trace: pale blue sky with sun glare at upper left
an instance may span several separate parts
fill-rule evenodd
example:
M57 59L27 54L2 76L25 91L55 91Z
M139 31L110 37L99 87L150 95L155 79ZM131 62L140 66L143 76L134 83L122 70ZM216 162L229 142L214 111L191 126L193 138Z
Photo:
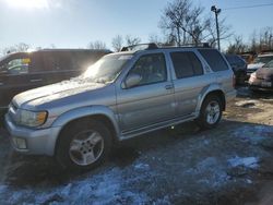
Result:
M147 41L151 34L161 35L162 11L171 0L0 0L0 49L19 43L33 48L86 48L102 40L111 49L116 35L131 35ZM254 29L273 26L273 0L193 0L213 15L211 5L223 9L233 33L246 41ZM227 43L223 43L227 44Z

